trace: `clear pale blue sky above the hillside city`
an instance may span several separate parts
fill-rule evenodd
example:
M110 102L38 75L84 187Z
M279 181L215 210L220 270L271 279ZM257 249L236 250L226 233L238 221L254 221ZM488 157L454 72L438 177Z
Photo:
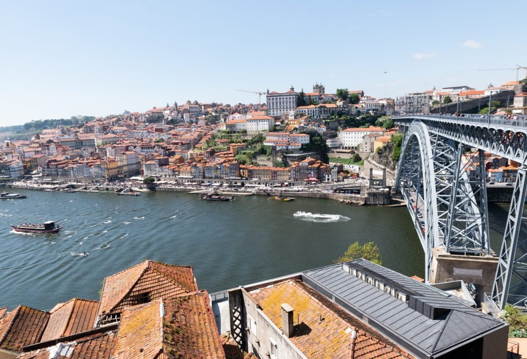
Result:
M308 92L315 82L376 98L500 85L516 71L476 70L527 66L527 2L503 4L2 2L0 125L257 102L233 90Z

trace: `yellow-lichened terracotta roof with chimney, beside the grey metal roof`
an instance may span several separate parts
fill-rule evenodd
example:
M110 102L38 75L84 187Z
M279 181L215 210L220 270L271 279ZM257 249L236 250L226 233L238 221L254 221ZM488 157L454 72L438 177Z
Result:
M289 340L308 358L412 358L373 328L344 312L301 282L287 280L250 292L265 315L281 328L281 304L294 309L295 333ZM297 319L298 318L298 319ZM298 323L299 322L299 323Z

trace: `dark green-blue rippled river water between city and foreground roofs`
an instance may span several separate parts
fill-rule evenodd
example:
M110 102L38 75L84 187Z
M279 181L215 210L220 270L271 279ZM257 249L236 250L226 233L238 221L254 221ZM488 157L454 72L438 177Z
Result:
M373 240L386 267L424 275L423 250L404 207L262 196L209 202L181 192L16 192L27 198L0 201L0 307L10 310L99 299L104 277L147 258L192 265L198 287L213 293L331 264L356 240ZM502 230L506 207L491 206L491 213L491 227ZM64 228L34 235L9 227L46 220ZM493 232L498 253L500 236Z

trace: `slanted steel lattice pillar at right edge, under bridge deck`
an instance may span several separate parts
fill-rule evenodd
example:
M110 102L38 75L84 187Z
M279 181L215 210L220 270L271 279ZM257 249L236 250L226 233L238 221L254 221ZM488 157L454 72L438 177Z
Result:
M500 251L491 298L500 309L505 304L527 306L527 167L518 169L509 216Z

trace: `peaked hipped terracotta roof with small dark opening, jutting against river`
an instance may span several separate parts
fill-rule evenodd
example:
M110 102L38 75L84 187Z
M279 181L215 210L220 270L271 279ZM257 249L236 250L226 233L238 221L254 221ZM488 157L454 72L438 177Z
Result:
M97 317L119 313L123 307L198 290L191 266L174 266L145 260L104 279Z

